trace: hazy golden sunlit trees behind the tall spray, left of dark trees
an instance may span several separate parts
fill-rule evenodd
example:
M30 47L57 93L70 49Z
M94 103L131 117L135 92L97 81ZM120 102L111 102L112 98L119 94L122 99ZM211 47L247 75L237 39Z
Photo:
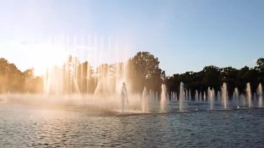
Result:
M149 52L138 52L124 63L101 64L96 69L88 61L81 63L79 58L69 56L61 67L51 67L43 76L34 76L33 69L22 72L14 63L6 58L0 58L0 93L31 92L56 94L90 93L93 94L97 85L102 85L100 79L108 78L110 92L116 91L114 86L117 77L124 72L126 66L127 80L131 83L132 92L142 92L143 88L160 92L164 73L159 67L158 58ZM62 82L62 83L60 83ZM109 86L110 85L110 86ZM48 86L48 87L46 87ZM104 88L104 87L101 87Z

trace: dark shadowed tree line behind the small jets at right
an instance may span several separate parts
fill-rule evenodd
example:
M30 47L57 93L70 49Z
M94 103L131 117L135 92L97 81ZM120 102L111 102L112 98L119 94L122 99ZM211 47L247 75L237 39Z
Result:
M210 65L204 67L200 72L185 72L167 76L165 83L169 91L179 92L181 81L185 84L185 89L190 90L192 98L195 97L196 90L199 93L204 93L208 87L211 87L220 91L223 83L227 85L229 96L233 94L235 88L238 88L240 93L245 94L247 83L251 84L251 91L256 92L258 84L264 83L264 58L258 58L256 66L253 68L247 66L241 69L220 68Z

